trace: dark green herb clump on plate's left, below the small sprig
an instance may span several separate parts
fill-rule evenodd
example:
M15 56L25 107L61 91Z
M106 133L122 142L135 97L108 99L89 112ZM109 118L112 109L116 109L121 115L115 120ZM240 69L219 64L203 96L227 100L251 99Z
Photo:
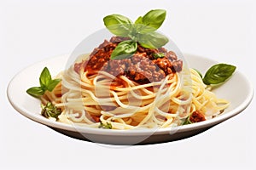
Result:
M47 102L46 105L41 105L42 111L41 115L46 118L54 117L58 120L58 116L61 115L61 108L56 107L51 102Z

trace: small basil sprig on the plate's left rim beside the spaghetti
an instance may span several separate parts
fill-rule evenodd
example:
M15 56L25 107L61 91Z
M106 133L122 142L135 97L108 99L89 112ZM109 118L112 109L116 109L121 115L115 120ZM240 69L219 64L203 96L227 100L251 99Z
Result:
M61 79L52 79L47 67L41 72L39 77L40 87L32 87L26 90L27 94L32 95L35 98L39 98L44 95L45 91L51 92L55 86L61 82Z

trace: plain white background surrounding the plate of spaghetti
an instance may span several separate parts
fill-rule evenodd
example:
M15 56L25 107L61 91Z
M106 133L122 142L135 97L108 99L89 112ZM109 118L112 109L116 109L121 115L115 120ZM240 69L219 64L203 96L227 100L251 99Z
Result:
M27 65L71 53L107 14L136 20L152 8L167 10L160 31L183 52L236 65L255 87L253 0L0 1L0 169L256 169L255 99L195 137L129 147L71 139L9 105L8 83Z

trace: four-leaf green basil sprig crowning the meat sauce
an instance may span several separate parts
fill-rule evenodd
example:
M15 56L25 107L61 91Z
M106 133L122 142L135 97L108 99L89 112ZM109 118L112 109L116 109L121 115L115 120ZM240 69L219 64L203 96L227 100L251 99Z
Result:
M130 37L130 41L120 42L113 50L111 59L125 59L137 51L137 43L143 48L160 48L169 40L166 36L155 32L166 19L166 10L154 9L139 16L135 23L121 14L104 17L104 25L108 31L119 37ZM119 56L121 55L121 56Z

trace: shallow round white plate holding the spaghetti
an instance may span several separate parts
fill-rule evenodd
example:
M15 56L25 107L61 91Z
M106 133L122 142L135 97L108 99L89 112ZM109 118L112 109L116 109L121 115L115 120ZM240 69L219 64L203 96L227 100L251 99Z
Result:
M211 65L216 64L212 59L185 54L189 66L199 71L206 71ZM76 139L84 139L104 144L154 144L185 139L201 133L220 122L243 111L253 98L253 87L247 78L241 74L239 68L224 85L214 90L219 98L228 99L230 107L223 115L205 122L198 122L176 128L146 129L146 130L112 130L90 127L74 127L61 122L53 122L40 115L40 102L26 94L26 89L38 85L38 77L44 66L49 68L52 75L65 69L68 55L61 55L38 62L20 71L9 82L7 94L9 102L16 111L32 121L42 123L56 131ZM242 89L242 90L241 90ZM239 96L239 97L238 97Z

